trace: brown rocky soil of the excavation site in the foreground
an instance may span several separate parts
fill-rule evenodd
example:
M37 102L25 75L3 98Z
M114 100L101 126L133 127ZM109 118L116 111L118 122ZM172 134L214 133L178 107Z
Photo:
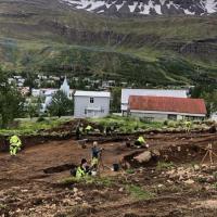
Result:
M0 216L216 216L217 165L201 161L216 133L153 133L150 148L125 141L100 144L100 177L77 181L69 168L90 146L74 140L27 146L11 158L0 153ZM216 158L214 157L216 163ZM118 173L114 163L125 163Z

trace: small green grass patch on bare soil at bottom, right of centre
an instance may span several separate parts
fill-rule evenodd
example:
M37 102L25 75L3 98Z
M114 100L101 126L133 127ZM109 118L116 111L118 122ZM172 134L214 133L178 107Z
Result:
M153 193L142 189L139 186L130 184L130 186L126 187L126 190L130 196L132 196L133 199L139 200L139 201L149 200L149 199L154 197Z

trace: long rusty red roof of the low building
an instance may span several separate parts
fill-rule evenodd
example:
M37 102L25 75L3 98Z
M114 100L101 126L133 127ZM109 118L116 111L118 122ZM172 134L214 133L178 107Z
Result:
M130 95L129 108L188 114L206 114L203 99Z

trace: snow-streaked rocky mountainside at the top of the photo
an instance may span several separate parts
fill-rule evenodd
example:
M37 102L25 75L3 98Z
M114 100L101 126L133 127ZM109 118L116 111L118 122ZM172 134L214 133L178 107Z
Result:
M217 0L61 0L89 12L107 15L207 15L217 12Z

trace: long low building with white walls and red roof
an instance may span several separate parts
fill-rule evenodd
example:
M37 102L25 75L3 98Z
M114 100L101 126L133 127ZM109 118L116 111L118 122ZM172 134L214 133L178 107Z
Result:
M202 99L130 95L128 114L149 120L203 119L206 106Z

